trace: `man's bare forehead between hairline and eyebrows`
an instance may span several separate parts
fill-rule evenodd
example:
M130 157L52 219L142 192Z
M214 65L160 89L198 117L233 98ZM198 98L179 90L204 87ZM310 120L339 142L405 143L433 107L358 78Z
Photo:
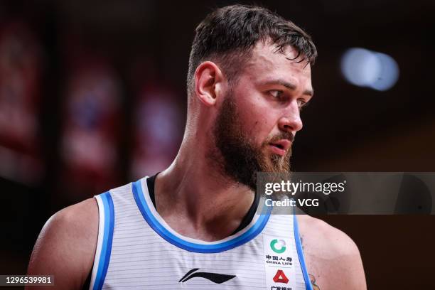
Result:
M296 56L296 49L287 45L284 54L276 50L273 43L259 41L252 49L251 58L247 61L244 74L251 80L267 80L279 78L294 83L301 89L311 88L311 65L307 65L302 56ZM300 63L298 63L302 60Z

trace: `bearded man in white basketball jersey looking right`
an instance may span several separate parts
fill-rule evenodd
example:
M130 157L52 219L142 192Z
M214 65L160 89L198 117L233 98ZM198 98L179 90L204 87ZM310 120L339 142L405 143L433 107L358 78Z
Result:
M311 38L267 9L213 11L196 28L176 159L53 215L28 273L55 275L58 289L87 277L92 289L366 289L343 232L254 214L256 172L289 171L315 58Z

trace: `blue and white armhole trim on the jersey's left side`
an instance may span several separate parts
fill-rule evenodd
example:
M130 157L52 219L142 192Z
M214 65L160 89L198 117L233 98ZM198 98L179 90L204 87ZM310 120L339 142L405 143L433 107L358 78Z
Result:
M109 267L110 252L112 252L112 237L114 228L114 206L109 191L95 195L98 204L98 238L94 265L90 280L90 290L100 290Z

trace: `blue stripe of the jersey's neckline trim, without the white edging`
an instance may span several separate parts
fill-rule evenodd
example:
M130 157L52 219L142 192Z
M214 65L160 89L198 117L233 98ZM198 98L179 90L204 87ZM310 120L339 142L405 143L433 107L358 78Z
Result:
M163 237L163 239L170 242L172 245L180 247L181 249L186 249L189 252L218 253L227 251L228 249L233 249L235 247L245 244L246 242L249 242L254 237L256 237L260 232L262 232L264 226L269 220L270 210L266 214L260 215L257 222L255 222L255 224L251 228L249 228L249 230L244 232L242 235L235 237L232 240L227 240L225 242L220 242L213 245L197 244L194 242L188 242L181 239L180 237L177 237L176 235L173 235L172 232L169 232L166 227L161 225L159 220L157 220L151 213L151 210L146 203L140 180L132 183L132 190L134 200L136 200L136 204L138 205L142 216L144 217L146 222L148 222L148 224L154 229L154 231L156 231L161 237Z

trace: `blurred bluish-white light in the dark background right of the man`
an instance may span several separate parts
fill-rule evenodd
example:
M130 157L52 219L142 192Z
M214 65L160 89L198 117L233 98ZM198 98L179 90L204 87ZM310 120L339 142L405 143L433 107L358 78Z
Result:
M389 90L399 78L399 66L392 57L365 48L346 50L341 72L353 85L381 91Z

